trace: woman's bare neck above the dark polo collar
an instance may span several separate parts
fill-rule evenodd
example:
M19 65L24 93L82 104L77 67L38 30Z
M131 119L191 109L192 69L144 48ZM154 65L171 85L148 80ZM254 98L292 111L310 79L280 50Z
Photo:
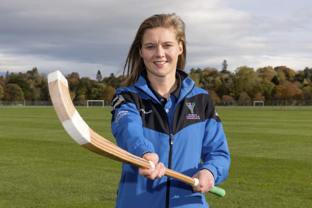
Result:
M178 80L175 78L175 74L174 76L168 77L149 77L149 75L147 75L147 77L154 89L167 100L169 99L169 94L178 86Z

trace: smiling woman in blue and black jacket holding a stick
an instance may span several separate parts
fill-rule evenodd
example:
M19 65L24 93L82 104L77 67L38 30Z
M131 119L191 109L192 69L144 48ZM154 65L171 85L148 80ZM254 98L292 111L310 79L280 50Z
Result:
M111 129L119 147L157 165L123 164L116 207L208 207L204 193L227 178L221 121L185 64L184 22L174 13L144 20L124 65L126 87L112 99ZM166 167L198 178L199 185L163 177Z

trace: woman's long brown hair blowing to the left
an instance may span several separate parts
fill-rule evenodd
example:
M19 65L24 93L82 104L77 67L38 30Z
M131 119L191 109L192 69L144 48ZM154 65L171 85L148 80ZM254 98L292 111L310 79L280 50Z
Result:
M142 39L144 32L147 29L155 27L172 28L176 34L178 43L181 41L183 44L183 52L178 56L177 68L184 70L186 64L186 39L185 39L185 24L175 13L172 14L155 14L142 22L140 25L134 41L130 46L127 59L123 65L123 76L125 80L122 86L131 86L139 79L140 71L145 68L143 58L139 54L139 49L142 46ZM121 70L122 70L121 68ZM125 76L125 71L127 73Z

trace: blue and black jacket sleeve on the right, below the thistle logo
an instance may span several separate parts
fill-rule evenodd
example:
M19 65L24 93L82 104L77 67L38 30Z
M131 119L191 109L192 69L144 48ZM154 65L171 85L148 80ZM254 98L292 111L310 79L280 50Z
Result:
M205 117L205 133L201 153L203 164L200 169L212 172L216 186L227 179L230 154L221 120L210 95L208 95Z

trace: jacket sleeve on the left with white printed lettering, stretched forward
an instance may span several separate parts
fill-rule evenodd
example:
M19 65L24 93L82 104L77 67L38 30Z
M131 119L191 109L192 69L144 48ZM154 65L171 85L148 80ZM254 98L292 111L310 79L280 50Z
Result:
M152 143L144 138L142 119L131 93L117 89L111 104L111 130L117 145L138 157L155 152Z

